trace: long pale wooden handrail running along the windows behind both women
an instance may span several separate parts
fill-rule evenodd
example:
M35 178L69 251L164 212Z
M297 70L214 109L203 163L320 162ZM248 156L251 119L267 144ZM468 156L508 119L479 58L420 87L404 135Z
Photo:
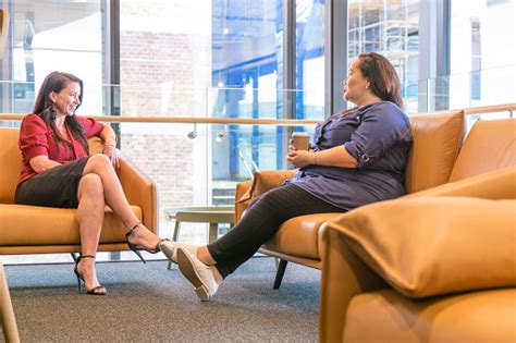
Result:
M460 109L456 109L458 111ZM513 112L516 110L516 102L480 106L464 109L466 115L483 114L493 112ZM445 110L441 112L450 112ZM439 113L439 112L434 112ZM427 114L427 113L418 113ZM22 120L26 114L0 113L0 120ZM112 123L175 123L175 124L235 124L235 125L284 125L303 126L320 123L322 120L314 119L250 119L250 118L199 118L199 117L119 117L119 115L87 115L100 122Z

